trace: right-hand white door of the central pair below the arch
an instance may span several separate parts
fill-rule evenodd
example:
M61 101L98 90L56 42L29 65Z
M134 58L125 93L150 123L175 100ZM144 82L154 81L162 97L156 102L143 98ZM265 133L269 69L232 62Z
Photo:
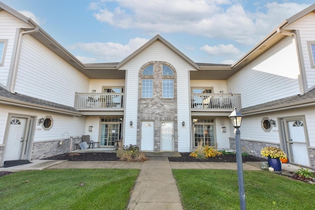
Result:
M161 150L174 151L174 122L161 122Z

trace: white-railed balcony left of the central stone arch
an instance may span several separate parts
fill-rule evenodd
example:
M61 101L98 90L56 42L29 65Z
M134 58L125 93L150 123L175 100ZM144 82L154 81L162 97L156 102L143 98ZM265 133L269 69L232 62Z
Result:
M125 93L75 93L74 108L79 111L124 111Z

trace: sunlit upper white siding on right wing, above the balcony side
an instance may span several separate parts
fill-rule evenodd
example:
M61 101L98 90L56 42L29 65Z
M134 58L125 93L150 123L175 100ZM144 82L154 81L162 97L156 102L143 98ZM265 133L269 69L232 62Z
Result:
M295 40L284 38L227 79L227 89L241 93L242 108L300 93Z

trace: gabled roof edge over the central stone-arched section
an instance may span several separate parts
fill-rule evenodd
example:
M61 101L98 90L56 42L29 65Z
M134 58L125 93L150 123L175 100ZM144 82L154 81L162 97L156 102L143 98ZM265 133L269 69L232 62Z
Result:
M116 67L119 69L123 65L125 65L127 62L132 60L134 57L142 53L145 49L150 47L153 43L156 41L160 41L163 43L166 47L168 47L171 51L173 51L176 55L178 55L180 58L185 60L189 63L193 68L199 69L199 66L193 62L191 59L189 59L185 54L183 54L181 51L179 51L177 48L175 48L173 45L171 45L168 41L166 41L162 36L157 34L155 37L153 37L151 40L149 40L147 43L142 45L142 47L138 48L136 51L134 51L132 54L130 54L126 59L122 60Z

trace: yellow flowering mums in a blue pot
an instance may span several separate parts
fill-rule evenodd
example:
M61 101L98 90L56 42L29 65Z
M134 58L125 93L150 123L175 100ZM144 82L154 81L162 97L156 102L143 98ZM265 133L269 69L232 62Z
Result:
M265 147L260 151L263 157L268 157L268 164L275 169L275 171L281 171L280 159L286 160L286 154L284 150L276 147Z

